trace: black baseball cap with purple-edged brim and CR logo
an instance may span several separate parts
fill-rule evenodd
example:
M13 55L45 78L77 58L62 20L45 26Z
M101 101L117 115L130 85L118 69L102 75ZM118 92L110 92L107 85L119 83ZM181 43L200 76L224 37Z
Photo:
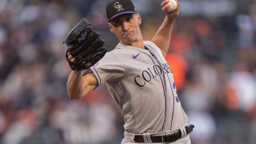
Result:
M108 22L123 14L137 13L131 0L113 0L106 6Z

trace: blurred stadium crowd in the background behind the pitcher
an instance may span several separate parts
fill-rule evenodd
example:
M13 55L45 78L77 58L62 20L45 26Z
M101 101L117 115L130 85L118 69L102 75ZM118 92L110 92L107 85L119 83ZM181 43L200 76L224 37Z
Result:
M100 86L70 100L68 32L87 18L111 51L109 0L0 0L0 143L119 144L120 108ZM144 40L162 0L133 0ZM166 57L195 129L192 144L256 143L256 0L179 0Z

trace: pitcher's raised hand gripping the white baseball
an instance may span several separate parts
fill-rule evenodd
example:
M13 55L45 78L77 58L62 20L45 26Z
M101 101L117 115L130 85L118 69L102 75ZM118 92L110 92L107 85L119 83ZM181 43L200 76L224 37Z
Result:
M175 10L173 11L168 11L168 8L170 6L173 6L172 3L174 3L174 1L177 3L177 7ZM179 8L180 8L180 3L178 3L177 0L164 0L161 3L161 7L162 7L162 11L164 14L166 14L166 16L170 19L170 20L174 20L175 18L177 18L179 16Z

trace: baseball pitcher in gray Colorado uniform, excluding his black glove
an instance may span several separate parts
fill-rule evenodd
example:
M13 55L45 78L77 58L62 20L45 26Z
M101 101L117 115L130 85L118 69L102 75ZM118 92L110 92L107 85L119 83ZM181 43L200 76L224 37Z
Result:
M106 6L109 29L120 43L94 66L72 71L68 80L70 99L81 99L106 83L124 117L122 144L190 144L188 133L194 126L187 126L172 70L164 59L180 6L178 3L176 10L168 12L168 2L161 3L166 17L151 41L143 41L142 21L131 0L110 2Z

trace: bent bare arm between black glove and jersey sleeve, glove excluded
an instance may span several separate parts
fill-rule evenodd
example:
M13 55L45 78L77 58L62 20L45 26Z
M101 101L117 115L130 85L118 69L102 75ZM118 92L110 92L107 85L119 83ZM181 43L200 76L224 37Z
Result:
M67 89L71 100L83 98L98 85L98 80L93 73L82 75L82 71L72 71L69 76Z

